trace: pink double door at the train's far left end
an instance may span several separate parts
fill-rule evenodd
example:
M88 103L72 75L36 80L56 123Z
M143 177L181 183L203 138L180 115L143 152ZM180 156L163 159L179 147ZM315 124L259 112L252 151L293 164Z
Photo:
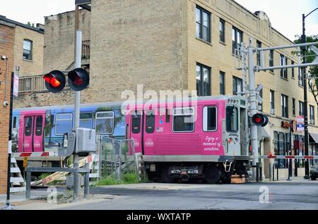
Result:
M24 114L22 119L23 139L20 146L23 152L43 151L45 111L43 113Z

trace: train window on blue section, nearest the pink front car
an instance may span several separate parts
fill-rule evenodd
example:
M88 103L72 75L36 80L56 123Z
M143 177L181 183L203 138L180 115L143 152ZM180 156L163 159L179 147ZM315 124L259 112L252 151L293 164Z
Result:
M96 132L102 135L110 135L114 132L114 112L96 113Z

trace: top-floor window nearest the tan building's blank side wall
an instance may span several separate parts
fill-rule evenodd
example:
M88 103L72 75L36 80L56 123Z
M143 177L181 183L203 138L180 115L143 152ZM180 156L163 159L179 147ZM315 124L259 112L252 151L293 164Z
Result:
M211 42L211 13L196 7L196 37Z

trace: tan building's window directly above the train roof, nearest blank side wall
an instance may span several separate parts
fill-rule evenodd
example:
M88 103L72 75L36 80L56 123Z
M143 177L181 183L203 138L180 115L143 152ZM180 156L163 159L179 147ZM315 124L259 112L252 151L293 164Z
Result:
M198 97L211 96L211 68L196 65L196 91Z

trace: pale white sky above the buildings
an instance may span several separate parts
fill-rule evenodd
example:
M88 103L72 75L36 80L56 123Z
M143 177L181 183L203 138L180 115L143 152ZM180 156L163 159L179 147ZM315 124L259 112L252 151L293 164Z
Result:
M0 0L0 15L20 23L42 23L47 15L73 11L75 0ZM105 0L107 1L107 0ZM224 1L224 0L216 0ZM302 32L302 13L318 8L318 0L236 0L249 11L265 11L271 25L291 40ZM318 10L306 18L306 34L318 35Z

